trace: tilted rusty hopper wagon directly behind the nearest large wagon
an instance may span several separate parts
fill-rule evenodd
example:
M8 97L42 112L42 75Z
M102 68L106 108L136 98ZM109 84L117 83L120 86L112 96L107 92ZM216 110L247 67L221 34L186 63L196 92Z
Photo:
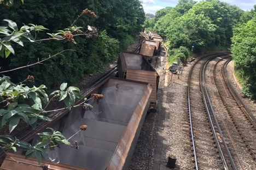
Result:
M150 102L156 103L159 75L143 55L121 52L118 58L118 76L129 80L150 83L152 86Z

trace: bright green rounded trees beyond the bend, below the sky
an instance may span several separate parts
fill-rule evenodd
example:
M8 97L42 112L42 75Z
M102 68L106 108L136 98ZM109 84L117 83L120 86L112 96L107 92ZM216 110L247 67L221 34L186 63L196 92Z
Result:
M163 11L167 9L170 8ZM180 0L167 14L153 18L146 26L167 37L171 48L190 48L194 44L194 52L202 52L212 45L230 47L232 28L243 13L242 9L217 0Z

